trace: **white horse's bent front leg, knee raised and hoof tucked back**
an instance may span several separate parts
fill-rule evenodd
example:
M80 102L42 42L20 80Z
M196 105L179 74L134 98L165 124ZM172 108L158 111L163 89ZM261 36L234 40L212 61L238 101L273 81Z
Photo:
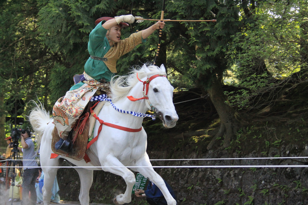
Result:
M113 174L121 176L126 183L126 190L124 194L117 195L115 197L115 203L124 204L130 203L132 201L132 189L136 182L135 175L128 168L125 168L124 165L115 157L108 156L106 160L100 160L103 171L109 171ZM105 168L109 167L109 168Z

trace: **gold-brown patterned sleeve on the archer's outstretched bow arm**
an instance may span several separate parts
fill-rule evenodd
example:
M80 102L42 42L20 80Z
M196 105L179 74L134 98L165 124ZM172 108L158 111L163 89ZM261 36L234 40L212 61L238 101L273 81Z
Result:
M137 33L131 34L128 38L125 38L124 40L120 41L119 57L130 52L132 49L136 47L136 45L139 45L140 43L142 43L141 34L142 34L142 31L139 31Z

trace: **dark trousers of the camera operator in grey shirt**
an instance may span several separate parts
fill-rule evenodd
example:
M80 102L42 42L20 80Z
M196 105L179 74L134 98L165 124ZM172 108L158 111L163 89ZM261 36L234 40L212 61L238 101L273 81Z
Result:
M21 205L35 205L36 191L35 182L39 176L39 168L25 169L22 177L22 202ZM29 191L31 197L29 198Z

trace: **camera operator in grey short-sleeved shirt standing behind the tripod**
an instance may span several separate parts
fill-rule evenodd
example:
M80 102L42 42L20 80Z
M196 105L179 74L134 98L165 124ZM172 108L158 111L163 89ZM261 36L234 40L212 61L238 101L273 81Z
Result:
M35 182L39 176L39 166L35 160L34 143L29 130L21 131L21 145L18 150L23 153L23 182L22 182L22 202L21 205L35 205L36 191ZM37 168L36 168L37 167ZM29 191L31 198L29 198Z

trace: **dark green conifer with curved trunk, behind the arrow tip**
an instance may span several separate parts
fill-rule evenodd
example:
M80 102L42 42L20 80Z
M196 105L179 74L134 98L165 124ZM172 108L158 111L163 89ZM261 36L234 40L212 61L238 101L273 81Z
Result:
M230 66L229 51L232 36L241 26L240 10L237 1L180 1L168 3L168 12L172 11L176 19L216 19L217 23L181 23L178 27L185 28L185 33L179 32L184 39L184 49L174 50L177 61L173 59L181 73L189 75L204 93L209 93L221 120L220 131L213 137L208 149L211 149L215 139L225 136L224 147L228 147L243 121L239 114L228 104L221 88L223 73ZM177 48L177 46L175 46ZM180 56L180 57L179 57ZM170 60L170 59L169 59ZM181 66L185 65L185 66Z

